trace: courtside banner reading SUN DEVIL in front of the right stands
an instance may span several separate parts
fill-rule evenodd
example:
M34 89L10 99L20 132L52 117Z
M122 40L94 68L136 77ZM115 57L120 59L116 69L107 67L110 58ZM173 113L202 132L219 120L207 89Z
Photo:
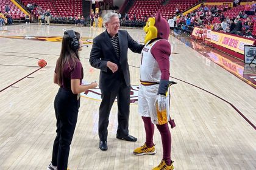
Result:
M198 36L197 30L199 29L201 28L194 27L192 35ZM240 53L242 55L244 55L244 45L253 45L255 41L255 39L252 39L252 38L243 38L241 36L230 35L228 33L222 33L222 32L216 32L216 31L211 32L211 40L212 40L212 43L214 44L225 47L229 50Z

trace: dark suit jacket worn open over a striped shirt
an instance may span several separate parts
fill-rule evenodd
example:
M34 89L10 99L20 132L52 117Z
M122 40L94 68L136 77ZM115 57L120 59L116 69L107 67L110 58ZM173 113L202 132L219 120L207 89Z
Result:
M118 31L119 52L116 55L115 48L110 40L110 36L105 32L93 39L93 47L90 54L91 66L100 69L99 88L103 92L113 92L120 86L121 81L125 81L126 86L130 86L130 72L127 62L128 48L132 52L141 53L144 45L138 44L130 37L126 30ZM107 61L118 65L118 71L115 73L108 69ZM124 77L124 78L123 78Z

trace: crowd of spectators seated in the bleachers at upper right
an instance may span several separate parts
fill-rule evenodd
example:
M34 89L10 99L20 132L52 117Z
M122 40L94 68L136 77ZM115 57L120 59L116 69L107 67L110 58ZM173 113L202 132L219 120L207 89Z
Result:
M249 6L249 7L248 7ZM238 9L240 11L238 11ZM177 21L179 29L193 29L193 26L205 27L220 32L233 33L253 38L255 36L255 4L238 5L229 9L227 5L204 5L182 16ZM189 30L191 32L191 30Z

